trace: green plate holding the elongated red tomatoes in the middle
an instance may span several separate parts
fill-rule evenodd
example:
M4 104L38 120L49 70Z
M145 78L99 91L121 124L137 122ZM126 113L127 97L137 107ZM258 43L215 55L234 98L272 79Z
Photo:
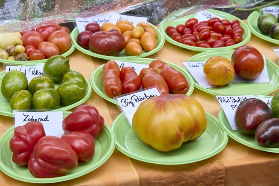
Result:
M133 63L139 63L139 64L149 64L153 60L154 59L151 59L151 58L139 58L139 59L130 59L130 60L121 60L121 61L133 62ZM195 87L194 80L193 80L192 76L190 75L190 73L186 72L185 70L183 70L182 67L180 67L178 65L175 65L170 62L166 62L166 63L168 63L170 66L172 66L176 70L180 71L187 78L187 80L189 82L189 90L186 93L186 95L190 96L192 94L192 92L194 91L194 87ZM104 92L103 83L102 83L103 66L104 65L101 65L93 71L93 73L91 74L91 77L90 77L90 84L91 84L93 90L97 94L99 94L99 96L101 96L102 98L106 99L107 101L109 101L111 103L119 105L117 100L108 97L106 95L106 93Z

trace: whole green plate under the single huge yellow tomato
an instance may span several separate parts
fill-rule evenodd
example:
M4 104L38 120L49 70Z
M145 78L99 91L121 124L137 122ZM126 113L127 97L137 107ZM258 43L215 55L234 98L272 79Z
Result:
M210 158L219 153L227 144L228 136L220 128L218 120L209 113L207 128L199 138L187 141L176 150L160 152L136 137L133 128L121 113L112 123L116 148L133 159L161 165L180 165Z

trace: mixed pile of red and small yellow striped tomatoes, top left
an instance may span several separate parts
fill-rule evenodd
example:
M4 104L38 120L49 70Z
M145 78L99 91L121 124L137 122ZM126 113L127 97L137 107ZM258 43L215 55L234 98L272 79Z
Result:
M11 41L0 49L2 59L42 60L53 55L61 55L72 46L69 28L59 23L38 26L30 31L20 32L20 36L10 39Z

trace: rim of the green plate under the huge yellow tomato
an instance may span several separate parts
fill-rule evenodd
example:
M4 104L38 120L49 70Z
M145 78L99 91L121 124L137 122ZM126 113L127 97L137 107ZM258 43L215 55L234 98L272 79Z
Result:
M185 161L176 161L176 160L171 160L171 159L168 160L168 161L160 161L160 160L152 159L150 157L142 157L142 156L138 156L138 155L130 152L127 148L121 146L119 144L119 142L117 141L117 138L116 138L116 148L130 158L133 158L133 159L136 159L136 160L139 160L139 161L143 161L143 162L147 162L147 163L159 164L159 165L182 165L182 164L194 163L194 162L198 162L198 161L201 161L201 160L205 160L205 159L210 158L210 157L218 154L219 152L221 152L225 148L225 146L226 146L226 144L228 143L228 140L229 140L228 135L219 126L217 118L215 118L214 116L212 116L208 112L206 112L206 115L207 115L207 121L210 118L211 120L214 121L212 124L216 125L217 128L220 128L220 130L218 131L220 133L218 133L218 135L220 134L220 136L222 136L222 141L219 144L218 148L212 149L212 151L209 154L204 155L202 158L193 157L193 159L185 160ZM128 123L125 119L125 115L122 112L121 114L119 114L119 116L116 117L116 119L114 120L114 122L111 125L111 129L114 131L114 134L116 136L117 136L117 133L115 132L115 129L116 129L116 126L119 125L119 120L124 120L126 122L126 124L128 125ZM209 125L207 124L207 127L208 126ZM207 130L208 129L206 128L205 131L207 131ZM185 142L185 143L187 143L187 142ZM157 150L154 149L154 151L157 151Z

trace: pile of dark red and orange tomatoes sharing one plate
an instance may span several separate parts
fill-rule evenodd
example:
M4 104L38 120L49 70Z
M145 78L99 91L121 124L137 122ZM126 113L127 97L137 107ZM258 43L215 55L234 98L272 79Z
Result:
M146 22L133 26L129 21L120 20L116 24L104 22L88 23L85 31L77 35L77 44L89 48L100 55L117 56L123 49L128 56L141 55L157 47L157 33Z

